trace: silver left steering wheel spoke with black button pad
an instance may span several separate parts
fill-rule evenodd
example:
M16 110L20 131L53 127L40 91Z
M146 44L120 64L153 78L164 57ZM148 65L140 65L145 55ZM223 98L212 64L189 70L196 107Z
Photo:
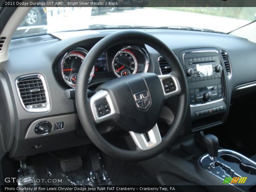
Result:
M107 91L100 90L95 93L90 99L90 105L96 123L116 118L116 110Z

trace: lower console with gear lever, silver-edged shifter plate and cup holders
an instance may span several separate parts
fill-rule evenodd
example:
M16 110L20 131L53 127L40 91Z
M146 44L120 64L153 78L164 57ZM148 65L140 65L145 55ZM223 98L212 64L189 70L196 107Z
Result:
M200 159L201 166L219 178L222 184L233 185L242 191L254 191L256 188L256 163L242 154L219 149L218 138L205 135L203 138L208 154Z

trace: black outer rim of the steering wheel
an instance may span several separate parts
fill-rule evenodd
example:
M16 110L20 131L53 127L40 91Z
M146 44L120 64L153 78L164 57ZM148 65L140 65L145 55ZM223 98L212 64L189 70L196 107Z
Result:
M147 44L159 52L169 64L172 64L171 74L177 77L181 87L181 92L178 95L177 113L171 128L168 130L165 136L162 137L162 142L160 144L148 150L125 150L112 145L106 139L104 139L96 128L96 122L94 121L90 106L90 98L87 98L90 71L92 70L94 63L99 58L100 54L116 44L129 42ZM180 128L185 120L185 114L188 108L187 106L188 87L186 75L178 58L175 56L174 52L172 52L172 50L170 50L169 47L166 46L162 41L145 32L125 30L106 36L95 44L88 52L79 70L76 84L76 109L79 119L90 140L98 148L100 148L100 150L114 158L142 161L162 153L177 138Z

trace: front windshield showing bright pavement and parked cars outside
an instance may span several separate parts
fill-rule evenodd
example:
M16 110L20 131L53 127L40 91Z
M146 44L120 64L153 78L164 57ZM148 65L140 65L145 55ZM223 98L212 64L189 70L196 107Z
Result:
M256 7L34 7L13 38L105 28L228 33L256 20Z

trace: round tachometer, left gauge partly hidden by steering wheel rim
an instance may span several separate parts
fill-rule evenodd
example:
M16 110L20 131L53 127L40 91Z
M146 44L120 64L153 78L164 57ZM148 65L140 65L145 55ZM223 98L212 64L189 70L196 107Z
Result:
M87 53L88 52L83 48L75 48L64 55L61 62L61 75L70 87L76 87L78 71ZM89 82L92 79L93 73L94 68L90 74Z

